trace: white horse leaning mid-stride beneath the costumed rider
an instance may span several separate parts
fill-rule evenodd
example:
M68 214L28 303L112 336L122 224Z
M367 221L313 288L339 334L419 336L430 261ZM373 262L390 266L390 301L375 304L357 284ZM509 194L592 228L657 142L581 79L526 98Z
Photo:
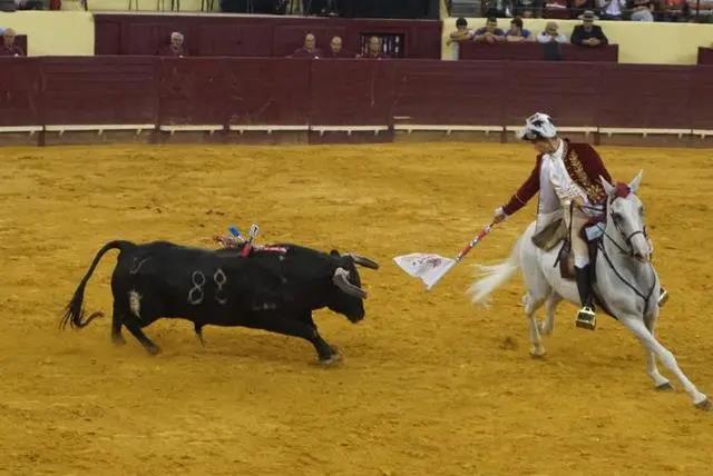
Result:
M658 275L651 264L651 245L644 228L644 209L635 192L642 173L628 185L614 187L604 178L607 192L606 226L596 260L594 289L609 311L642 343L646 353L646 371L656 389L670 390L668 379L658 373L656 357L681 381L693 404L701 409L711 409L705 394L688 380L676 364L674 355L656 340L654 329L658 318ZM579 305L579 295L574 281L560 277L556 266L558 247L545 251L533 244L536 224L533 222L518 239L509 258L496 266L481 267L484 271L470 287L472 300L482 304L502 286L517 270L522 269L527 294L522 301L530 328L530 355L543 357L543 335L549 335L555 324L557 304L564 298ZM546 318L535 318L535 311L545 305Z

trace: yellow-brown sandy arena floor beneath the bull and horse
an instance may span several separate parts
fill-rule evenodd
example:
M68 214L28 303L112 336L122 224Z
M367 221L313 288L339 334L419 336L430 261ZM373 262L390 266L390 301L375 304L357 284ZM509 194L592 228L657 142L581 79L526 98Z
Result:
M713 151L602 148L642 198L672 291L660 335L713 394ZM473 308L475 262L507 256L533 206L434 291L391 261L451 255L530 170L520 146L57 147L1 149L0 473L234 475L710 474L713 415L677 383L656 393L635 339L609 318L558 313L528 356L519 278ZM106 241L213 247L229 224L262 241L354 250L367 319L318 316L341 365L301 340L187 321L146 331L149 357L109 341L109 318L57 329ZM105 257L87 291L110 310Z

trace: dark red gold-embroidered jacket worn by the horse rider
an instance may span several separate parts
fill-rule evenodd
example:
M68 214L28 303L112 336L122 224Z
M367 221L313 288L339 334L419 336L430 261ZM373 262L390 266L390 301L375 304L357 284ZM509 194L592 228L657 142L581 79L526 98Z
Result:
M589 202L600 204L606 198L606 191L599 181L599 176L612 182L612 176L604 167L599 155L588 143L572 143L564 139L567 147L565 156L565 168L569 177L587 194ZM539 168L543 163L543 156L537 156L537 162L525 184L515 192L502 210L506 215L512 215L539 191Z

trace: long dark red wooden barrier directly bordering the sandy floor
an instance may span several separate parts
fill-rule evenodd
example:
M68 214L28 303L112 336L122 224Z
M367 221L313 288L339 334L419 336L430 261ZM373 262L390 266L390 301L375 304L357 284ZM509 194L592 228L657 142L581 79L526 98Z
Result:
M107 56L2 58L0 68L9 72L0 131L41 137L356 132L383 141L479 131L505 140L546 111L595 138L713 138L713 66Z

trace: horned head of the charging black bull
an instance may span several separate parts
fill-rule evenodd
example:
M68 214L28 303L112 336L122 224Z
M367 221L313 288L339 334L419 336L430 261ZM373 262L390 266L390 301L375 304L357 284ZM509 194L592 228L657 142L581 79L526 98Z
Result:
M332 275L335 289L331 294L328 307L335 313L343 314L352 323L356 323L364 318L367 291L361 287L361 278L355 265L370 269L379 269L379 265L363 256L340 255L336 250L332 250L330 256L335 261L336 268Z

